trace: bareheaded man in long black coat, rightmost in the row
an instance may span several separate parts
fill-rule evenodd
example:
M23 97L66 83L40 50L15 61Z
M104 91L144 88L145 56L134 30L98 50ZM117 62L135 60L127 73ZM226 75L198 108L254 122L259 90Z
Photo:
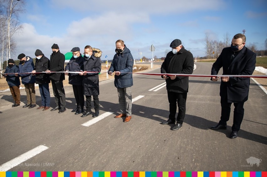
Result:
M212 75L217 75L222 67L222 75L252 75L255 69L256 54L245 47L246 37L236 34L231 42L231 47L222 49L221 55L212 65ZM219 77L212 77L217 81ZM229 120L231 104L234 103L233 126L230 138L236 138L244 116L244 102L248 100L250 78L247 77L221 77L221 120L212 130L226 129Z

